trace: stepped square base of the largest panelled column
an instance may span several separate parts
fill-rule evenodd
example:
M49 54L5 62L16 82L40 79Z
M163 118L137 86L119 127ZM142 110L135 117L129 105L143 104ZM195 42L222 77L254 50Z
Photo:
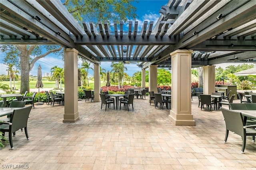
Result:
M176 114L171 110L168 118L176 126L196 126L193 115Z

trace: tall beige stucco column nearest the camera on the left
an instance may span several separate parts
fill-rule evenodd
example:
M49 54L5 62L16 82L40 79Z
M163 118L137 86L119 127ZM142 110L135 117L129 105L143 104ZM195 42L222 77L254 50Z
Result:
M64 74L65 74L65 106L63 122L76 122L78 113L78 51L74 48L64 49Z

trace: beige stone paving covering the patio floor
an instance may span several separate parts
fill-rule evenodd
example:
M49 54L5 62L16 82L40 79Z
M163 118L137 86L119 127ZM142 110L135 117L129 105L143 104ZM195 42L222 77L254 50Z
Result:
M234 101L238 102L238 100ZM78 101L80 120L62 123L64 106L36 105L28 121L26 140L20 130L0 149L1 168L32 170L255 170L256 143L230 133L224 144L221 111L198 108L196 126L175 126L170 110L134 99L134 111L123 107L100 110L101 103ZM226 107L226 106L224 106ZM7 138L8 135L6 134Z

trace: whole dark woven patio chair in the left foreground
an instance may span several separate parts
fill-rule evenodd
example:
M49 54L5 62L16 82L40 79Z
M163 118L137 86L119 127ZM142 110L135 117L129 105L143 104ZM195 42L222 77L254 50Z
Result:
M4 122L2 125L0 125L0 131L3 133L3 136L5 132L9 132L9 142L10 142L11 149L14 149L12 144L12 133L15 136L15 132L17 130L24 128L26 138L27 140L29 139L27 124L28 124L28 116L30 114L31 109L32 109L32 105L28 107L23 107L20 109L14 109L10 122L9 123Z

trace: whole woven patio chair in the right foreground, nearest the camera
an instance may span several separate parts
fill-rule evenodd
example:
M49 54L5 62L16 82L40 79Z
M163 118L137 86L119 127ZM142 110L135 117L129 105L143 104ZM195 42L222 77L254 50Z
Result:
M228 132L234 132L242 137L242 151L244 153L246 145L246 136L256 136L256 125L244 125L244 120L241 112L236 112L228 109L221 108L225 123L226 123L226 136L224 143L227 142Z

